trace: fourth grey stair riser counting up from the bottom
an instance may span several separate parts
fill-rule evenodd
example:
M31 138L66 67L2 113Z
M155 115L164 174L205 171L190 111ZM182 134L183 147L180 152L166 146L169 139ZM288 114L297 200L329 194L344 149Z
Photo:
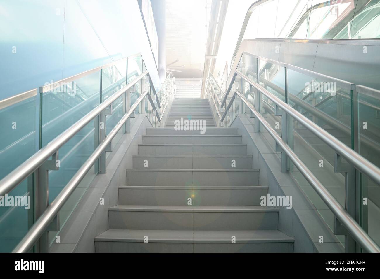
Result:
M259 171L135 171L127 170L127 185L255 186Z

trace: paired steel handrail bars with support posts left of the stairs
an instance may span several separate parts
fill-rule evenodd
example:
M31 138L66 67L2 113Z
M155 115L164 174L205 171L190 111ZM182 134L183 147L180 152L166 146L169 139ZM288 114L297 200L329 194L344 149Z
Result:
M90 70L92 71L92 70ZM88 72L88 71L87 71ZM19 245L14 249L13 252L28 252L37 244L36 251L38 252L48 252L49 243L48 243L48 234L49 230L57 230L59 227L58 214L60 208L65 204L69 199L70 195L73 193L75 188L79 185L81 180L87 174L87 172L96 166L99 159L99 172L105 173L105 152L112 150L112 139L119 132L120 129L125 129L126 123L133 117L137 107L141 107L142 103L145 103L145 98L148 96L150 105L153 110L155 110L155 115L158 121L162 121L163 113L165 112L166 106L168 105L168 99L170 94L175 94L175 83L174 78L169 78L165 80L163 86L167 85L169 81L168 90L166 90L163 100L160 103L157 102L157 107L154 104L154 100L150 96L150 90L147 89L142 93L136 102L130 106L130 91L133 90L134 86L138 82L142 82L145 77L148 77L150 85L152 81L150 80L149 72L144 71L141 75L135 78L132 82L120 88L117 92L112 94L108 99L104 100L92 111L86 114L83 118L77 121L75 124L71 125L70 128L65 130L55 139L53 139L49 144L40 149L36 154L30 157L18 168L14 169L10 174L0 180L0 195L9 193L13 190L19 183L21 183L26 177L30 176L33 172L35 173L35 187L36 194L34 196L36 204L36 222L30 227L25 237L21 240ZM55 84L55 83L54 83ZM42 91L42 88L41 88ZM165 90L164 90L165 91ZM129 94L128 94L129 93ZM153 94L157 98L157 93L153 88ZM105 134L105 118L106 115L112 115L112 103L117 100L120 96L123 97L123 113L124 116L117 125L112 129L112 131L106 136ZM129 102L128 102L129 100ZM161 107L161 104L165 103L165 107L160 116L158 113L158 108ZM145 106L144 106L145 107ZM141 108L142 110L142 108ZM79 168L76 174L71 178L70 182L65 186L65 188L60 192L60 194L55 198L54 202L49 205L48 202L48 170L57 170L55 162L58 159L58 151L63 144L67 143L79 130L86 126L90 121L94 120L95 132L94 133L94 143L99 143L95 151L90 155L86 162ZM104 129L98 129L98 125L103 122ZM128 125L127 125L128 127ZM125 129L125 132L128 132L128 128ZM48 160L52 157L51 160Z

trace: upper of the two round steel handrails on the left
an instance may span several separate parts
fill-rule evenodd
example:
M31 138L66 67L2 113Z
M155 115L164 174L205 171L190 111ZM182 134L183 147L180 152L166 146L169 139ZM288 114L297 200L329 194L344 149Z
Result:
M49 144L36 152L32 157L10 172L2 180L0 180L0 196L4 196L13 190L19 183L27 178L33 171L42 165L51 155L53 155L63 144L70 140L76 133L79 132L84 126L86 126L92 119L98 116L102 111L108 108L112 102L122 96L128 89L134 86L146 75L149 76L149 72L145 71L139 75L135 80L123 86L116 93L112 94L104 102L100 103L92 111L87 113L84 117L79 119L70 128L62 132L59 136L53 139Z

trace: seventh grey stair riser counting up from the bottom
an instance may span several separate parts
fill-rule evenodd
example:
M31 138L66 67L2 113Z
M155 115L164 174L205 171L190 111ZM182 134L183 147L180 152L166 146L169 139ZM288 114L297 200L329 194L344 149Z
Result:
M241 136L142 136L143 144L240 144Z

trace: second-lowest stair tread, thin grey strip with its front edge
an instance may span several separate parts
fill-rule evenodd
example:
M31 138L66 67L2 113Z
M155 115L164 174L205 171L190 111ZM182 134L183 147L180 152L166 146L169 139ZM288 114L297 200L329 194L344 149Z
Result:
M261 205L125 205L108 208L109 211L144 212L278 212L275 207Z

